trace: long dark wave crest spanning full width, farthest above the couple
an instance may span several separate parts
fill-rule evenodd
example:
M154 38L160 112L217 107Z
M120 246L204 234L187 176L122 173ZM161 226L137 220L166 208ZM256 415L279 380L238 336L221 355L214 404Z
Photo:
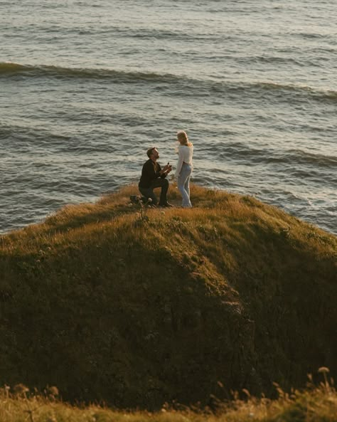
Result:
M313 88L307 85L282 84L272 81L219 81L208 78L193 78L173 73L156 73L146 71L114 70L109 68L65 68L55 65L23 65L20 63L0 63L0 78L23 76L27 78L77 78L90 80L110 80L116 83L169 83L177 88L188 88L200 93L290 93L305 95L313 99L337 100L336 90ZM203 90L203 92L201 91Z

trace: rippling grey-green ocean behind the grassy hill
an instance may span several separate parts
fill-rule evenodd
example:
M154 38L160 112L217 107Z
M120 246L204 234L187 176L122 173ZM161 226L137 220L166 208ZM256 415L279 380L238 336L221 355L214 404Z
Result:
M336 16L336 0L1 0L0 233L137 182L149 147L174 167L178 130L194 183L337 233Z

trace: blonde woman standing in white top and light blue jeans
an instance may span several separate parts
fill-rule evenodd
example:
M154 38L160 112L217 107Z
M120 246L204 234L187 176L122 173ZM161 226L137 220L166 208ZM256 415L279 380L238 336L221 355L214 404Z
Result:
M191 208L190 201L190 178L193 170L193 144L188 141L186 132L178 132L178 164L174 176L178 178L178 189L183 196L183 208Z

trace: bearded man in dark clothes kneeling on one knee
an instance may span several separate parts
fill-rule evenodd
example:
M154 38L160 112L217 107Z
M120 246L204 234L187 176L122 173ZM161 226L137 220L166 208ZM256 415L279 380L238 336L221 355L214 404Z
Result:
M161 188L159 206L171 206L166 198L169 189L169 180L166 179L166 176L171 172L172 167L169 164L166 164L166 166L161 169L160 164L157 163L159 152L156 147L149 148L146 151L146 154L149 159L141 170L141 179L138 184L139 191L147 199L151 198L152 204L157 205L158 200L154 194L154 189Z

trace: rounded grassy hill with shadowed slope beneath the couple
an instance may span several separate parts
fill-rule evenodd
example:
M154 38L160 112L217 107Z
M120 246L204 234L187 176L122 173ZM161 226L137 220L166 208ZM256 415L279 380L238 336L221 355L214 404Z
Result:
M0 384L154 409L336 374L336 236L250 196L131 194L0 237Z

